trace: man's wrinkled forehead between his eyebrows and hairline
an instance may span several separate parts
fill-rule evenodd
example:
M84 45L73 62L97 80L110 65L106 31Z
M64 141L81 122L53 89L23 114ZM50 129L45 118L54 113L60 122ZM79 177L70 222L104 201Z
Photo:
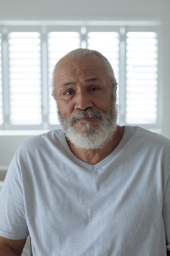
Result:
M62 83L68 79L86 79L98 77L108 79L104 71L104 64L97 56L90 55L81 59L74 59L66 56L58 64L55 70L55 83Z

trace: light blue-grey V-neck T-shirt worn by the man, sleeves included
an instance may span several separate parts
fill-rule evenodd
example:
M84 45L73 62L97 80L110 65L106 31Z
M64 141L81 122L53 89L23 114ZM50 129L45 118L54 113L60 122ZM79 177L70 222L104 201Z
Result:
M170 141L125 126L115 150L91 165L62 130L28 139L0 193L0 236L29 234L33 256L166 256Z

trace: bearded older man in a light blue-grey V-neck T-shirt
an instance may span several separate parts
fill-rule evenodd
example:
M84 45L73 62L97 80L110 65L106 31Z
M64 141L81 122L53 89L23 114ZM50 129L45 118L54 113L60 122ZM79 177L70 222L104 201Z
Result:
M170 141L117 126L107 59L76 49L53 72L62 130L25 141L0 197L0 252L170 255Z

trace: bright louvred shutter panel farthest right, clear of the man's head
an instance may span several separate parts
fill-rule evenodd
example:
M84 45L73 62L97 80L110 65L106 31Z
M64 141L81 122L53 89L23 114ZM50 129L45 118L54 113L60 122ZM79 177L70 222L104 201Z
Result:
M155 32L128 32L126 123L157 123L158 42Z

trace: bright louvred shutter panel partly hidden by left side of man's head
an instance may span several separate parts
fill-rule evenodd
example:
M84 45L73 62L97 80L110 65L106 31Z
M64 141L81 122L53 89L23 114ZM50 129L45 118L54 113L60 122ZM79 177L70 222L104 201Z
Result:
M68 52L80 47L80 34L76 31L50 32L48 35L48 58L49 58L49 78L51 78L53 68L57 61ZM51 85L51 81L49 82ZM56 105L49 90L49 123L59 124L56 114Z

